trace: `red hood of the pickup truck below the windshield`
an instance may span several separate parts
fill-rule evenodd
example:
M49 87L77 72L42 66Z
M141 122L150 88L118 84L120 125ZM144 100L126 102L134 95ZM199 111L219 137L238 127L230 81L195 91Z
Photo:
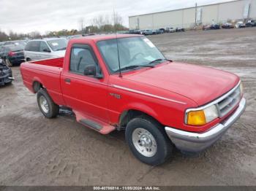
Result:
M235 74L227 71L187 63L163 63L153 69L138 71L123 77L183 95L195 101L198 106L227 93L239 82Z

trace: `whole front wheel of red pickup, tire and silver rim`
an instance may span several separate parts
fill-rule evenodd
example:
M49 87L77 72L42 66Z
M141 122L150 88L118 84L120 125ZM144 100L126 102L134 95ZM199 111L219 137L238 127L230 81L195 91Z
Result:
M162 125L149 117L138 117L127 124L125 138L133 155L148 165L160 165L171 156L173 144Z

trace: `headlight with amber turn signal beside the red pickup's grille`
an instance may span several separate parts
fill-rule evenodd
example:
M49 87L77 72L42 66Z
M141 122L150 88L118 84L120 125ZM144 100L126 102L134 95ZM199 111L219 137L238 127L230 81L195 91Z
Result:
M217 117L219 117L217 107L208 106L206 109L187 112L187 125L206 125Z

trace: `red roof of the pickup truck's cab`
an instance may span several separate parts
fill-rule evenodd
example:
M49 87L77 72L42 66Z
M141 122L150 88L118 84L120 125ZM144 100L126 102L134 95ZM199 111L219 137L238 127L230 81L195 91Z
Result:
M78 43L78 42L86 42L88 40L92 40L94 42L99 42L102 40L109 39L121 39L121 38L129 38L129 37L140 37L143 35L140 34L102 34L102 35L91 35L91 36L82 36L77 39L70 39L69 42Z

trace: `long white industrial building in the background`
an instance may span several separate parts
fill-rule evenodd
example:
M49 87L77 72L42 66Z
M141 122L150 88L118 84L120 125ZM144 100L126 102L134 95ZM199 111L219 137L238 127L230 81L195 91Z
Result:
M129 17L129 29L157 29L165 27L192 28L197 25L225 23L229 20L256 18L256 0L236 0L219 4L154 12Z

